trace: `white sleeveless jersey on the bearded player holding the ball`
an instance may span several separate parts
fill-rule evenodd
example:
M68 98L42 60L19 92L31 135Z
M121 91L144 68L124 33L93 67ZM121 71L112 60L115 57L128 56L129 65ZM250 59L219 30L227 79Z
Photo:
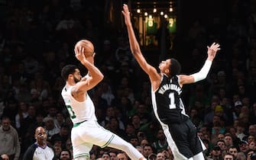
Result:
M70 86L69 88L66 88L65 86L61 92L72 122L75 124L85 120L97 120L95 115L95 107L91 98L89 97L89 94L86 94L86 101L76 101L71 94L72 88L73 86Z

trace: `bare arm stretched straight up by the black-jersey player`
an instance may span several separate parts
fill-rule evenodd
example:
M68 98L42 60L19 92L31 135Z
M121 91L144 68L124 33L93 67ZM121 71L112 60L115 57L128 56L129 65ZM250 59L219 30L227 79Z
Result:
M157 69L149 65L141 53L140 46L138 44L138 41L134 34L134 30L132 28L130 11L128 9L128 5L123 5L122 14L124 15L125 24L128 30L131 53L134 55L134 58L138 61L139 65L141 66L141 69L143 69L144 72L146 72L147 75L150 77L151 82L160 81L160 75L157 73Z

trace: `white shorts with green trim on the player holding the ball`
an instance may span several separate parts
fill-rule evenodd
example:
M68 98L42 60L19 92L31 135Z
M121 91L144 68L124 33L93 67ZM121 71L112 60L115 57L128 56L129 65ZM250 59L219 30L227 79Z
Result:
M104 148L114 138L114 134L105 130L94 120L80 123L71 130L71 141L73 146L73 158L87 156L93 145Z

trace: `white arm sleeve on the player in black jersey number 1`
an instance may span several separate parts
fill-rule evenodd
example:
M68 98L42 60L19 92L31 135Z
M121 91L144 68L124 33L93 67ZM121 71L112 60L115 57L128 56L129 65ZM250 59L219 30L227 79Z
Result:
M209 73L209 70L211 69L211 66L212 66L212 61L206 60L205 64L203 65L203 68L199 72L196 72L193 75L191 75L195 79L195 82L199 82L204 78L206 78L206 76Z

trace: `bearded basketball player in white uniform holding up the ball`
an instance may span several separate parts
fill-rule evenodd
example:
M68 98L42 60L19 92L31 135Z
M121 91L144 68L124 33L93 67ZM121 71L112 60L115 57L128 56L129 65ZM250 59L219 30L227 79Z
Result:
M76 48L75 53L76 59L88 69L89 74L82 78L79 69L73 65L64 66L61 72L66 81L61 94L73 121L71 140L74 160L89 159L92 145L123 150L134 160L145 159L130 143L97 123L95 107L87 91L99 84L104 76L93 65L95 53L86 58L83 47Z

